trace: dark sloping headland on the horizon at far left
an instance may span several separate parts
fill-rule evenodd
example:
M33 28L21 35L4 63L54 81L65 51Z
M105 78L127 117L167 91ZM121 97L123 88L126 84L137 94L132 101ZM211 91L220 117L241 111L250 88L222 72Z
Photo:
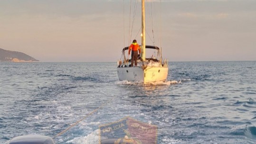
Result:
M22 52L0 49L0 61L26 62L39 60Z

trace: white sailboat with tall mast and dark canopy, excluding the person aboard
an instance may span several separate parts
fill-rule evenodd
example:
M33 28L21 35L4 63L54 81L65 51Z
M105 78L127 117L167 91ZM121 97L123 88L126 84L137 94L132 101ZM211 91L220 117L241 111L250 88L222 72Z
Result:
M157 46L146 45L145 31L145 0L142 0L142 44L141 56L138 56L137 66L130 67L129 59L125 57L125 51L129 47L123 48L123 59L117 61L117 75L119 80L140 81L144 84L154 82L164 82L168 76L168 59L163 59L161 49ZM146 58L146 50L153 49L157 51L157 58Z

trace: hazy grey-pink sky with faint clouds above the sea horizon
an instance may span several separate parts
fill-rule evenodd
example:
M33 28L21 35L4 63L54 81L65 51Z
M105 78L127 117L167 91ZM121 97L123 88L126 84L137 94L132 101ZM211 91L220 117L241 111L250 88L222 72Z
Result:
M40 61L117 61L140 28L138 0L0 0L0 48ZM256 0L146 0L146 31L169 61L256 60Z

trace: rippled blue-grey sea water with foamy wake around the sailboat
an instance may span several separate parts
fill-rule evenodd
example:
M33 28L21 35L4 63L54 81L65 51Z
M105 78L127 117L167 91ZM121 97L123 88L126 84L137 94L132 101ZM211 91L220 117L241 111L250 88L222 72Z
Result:
M115 63L0 63L0 143L56 136L98 144L126 116L158 127L158 144L256 144L256 61L171 62L165 83L119 81Z

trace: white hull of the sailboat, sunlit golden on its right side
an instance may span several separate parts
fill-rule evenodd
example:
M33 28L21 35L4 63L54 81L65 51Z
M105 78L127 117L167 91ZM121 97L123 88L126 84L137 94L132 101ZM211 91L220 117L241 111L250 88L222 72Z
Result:
M119 80L142 81L144 84L151 82L163 82L167 79L167 67L124 67L117 68Z

